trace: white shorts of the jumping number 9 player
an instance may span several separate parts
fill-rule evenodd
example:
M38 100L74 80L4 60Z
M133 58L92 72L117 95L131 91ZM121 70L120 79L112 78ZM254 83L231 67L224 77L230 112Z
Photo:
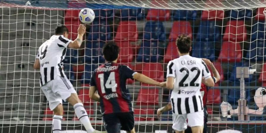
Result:
M62 103L62 99L66 101L71 93L77 93L71 82L66 77L56 76L54 80L47 82L41 87L46 96L51 110Z

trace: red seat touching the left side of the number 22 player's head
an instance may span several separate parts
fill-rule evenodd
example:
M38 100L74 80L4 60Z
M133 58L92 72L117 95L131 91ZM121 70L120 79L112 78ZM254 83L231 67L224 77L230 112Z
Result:
M164 55L164 63L168 63L169 61L176 59L179 57L179 54L177 52L177 46L176 41L169 41L166 53Z

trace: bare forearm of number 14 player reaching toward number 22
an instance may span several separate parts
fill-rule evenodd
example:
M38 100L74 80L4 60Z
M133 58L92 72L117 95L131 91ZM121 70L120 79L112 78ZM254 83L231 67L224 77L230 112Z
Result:
M136 73L133 75L133 79L135 80L138 80L142 83L146 83L146 84L150 84L150 85L156 85L156 86L160 86L160 87L165 87L166 86L166 83L165 82L157 82L143 74L140 74L140 73Z

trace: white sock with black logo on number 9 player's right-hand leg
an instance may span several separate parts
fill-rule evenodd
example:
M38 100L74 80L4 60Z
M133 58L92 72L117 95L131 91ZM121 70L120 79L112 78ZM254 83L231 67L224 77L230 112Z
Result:
M85 108L83 107L83 104L82 103L76 103L74 105L74 110L75 110L75 113L76 113L78 119L84 125L87 132L88 133L94 132L94 129L90 124L88 114L87 114Z

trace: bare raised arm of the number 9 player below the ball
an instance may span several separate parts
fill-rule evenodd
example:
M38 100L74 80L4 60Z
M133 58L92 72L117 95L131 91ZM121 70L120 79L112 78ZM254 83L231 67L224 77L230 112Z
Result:
M69 43L68 48L74 48L74 49L80 48L82 40L83 40L83 35L86 32L85 25L80 24L77 32L78 32L77 38L74 41L72 41L71 43Z

